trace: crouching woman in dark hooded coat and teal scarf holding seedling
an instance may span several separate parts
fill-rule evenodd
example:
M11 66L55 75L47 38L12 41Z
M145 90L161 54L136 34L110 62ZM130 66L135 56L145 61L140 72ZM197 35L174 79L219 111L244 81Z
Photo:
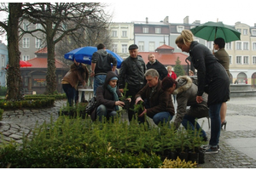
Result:
M102 86L96 90L96 109L91 113L91 119L95 121L97 116L99 121L102 122L103 117L112 119L114 116L118 116L119 106L124 107L125 103L120 101L119 98L122 94L117 86L118 76L113 71L108 71L105 82ZM131 102L131 99L128 98Z

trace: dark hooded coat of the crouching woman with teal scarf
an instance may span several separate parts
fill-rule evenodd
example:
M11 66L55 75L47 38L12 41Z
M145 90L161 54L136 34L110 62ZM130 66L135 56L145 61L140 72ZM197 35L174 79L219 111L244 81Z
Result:
M113 71L108 71L104 84L96 89L96 108L99 105L105 105L108 111L115 111L115 101L113 99L113 94L107 88L108 82L112 77L118 76ZM122 97L119 88L116 89L116 93L118 94L119 98ZM91 113L90 117L93 121L96 120L96 109Z

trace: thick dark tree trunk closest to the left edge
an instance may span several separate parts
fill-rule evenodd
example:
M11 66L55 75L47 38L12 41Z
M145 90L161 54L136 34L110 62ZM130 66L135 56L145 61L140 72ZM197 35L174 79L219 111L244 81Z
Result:
M22 16L22 3L9 3L7 99L21 99L22 81L20 76L19 19Z

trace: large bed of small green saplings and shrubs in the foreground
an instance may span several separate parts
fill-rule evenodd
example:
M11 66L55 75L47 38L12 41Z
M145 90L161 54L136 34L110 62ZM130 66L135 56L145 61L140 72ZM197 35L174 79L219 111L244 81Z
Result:
M35 127L32 137L24 137L22 144L3 146L0 167L158 168L160 153L171 147L166 137L182 134L173 132L167 125L148 127L137 120L128 125L120 118L112 123L60 116L56 122L51 119Z

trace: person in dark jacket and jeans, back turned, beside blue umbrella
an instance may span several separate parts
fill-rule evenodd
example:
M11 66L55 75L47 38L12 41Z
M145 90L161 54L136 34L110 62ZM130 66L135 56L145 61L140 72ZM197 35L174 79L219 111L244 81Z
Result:
M111 67L111 64L113 66ZM117 60L112 54L108 54L105 45L100 43L97 46L97 51L91 57L91 74L94 77L93 92L96 95L96 89L102 86L106 79L108 71L115 71Z

